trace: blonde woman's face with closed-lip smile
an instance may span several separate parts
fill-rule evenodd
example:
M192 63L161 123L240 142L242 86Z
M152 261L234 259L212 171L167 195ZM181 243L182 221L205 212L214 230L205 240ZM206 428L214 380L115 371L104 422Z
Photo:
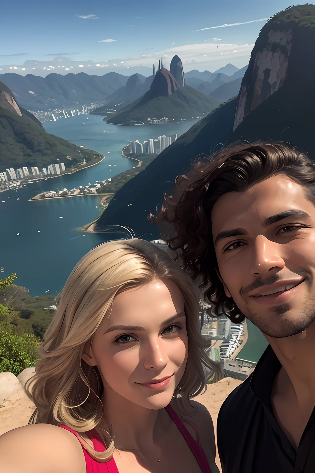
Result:
M89 365L97 365L104 392L113 390L149 409L165 407L187 363L184 299L170 280L129 289L114 298L111 315L95 332Z

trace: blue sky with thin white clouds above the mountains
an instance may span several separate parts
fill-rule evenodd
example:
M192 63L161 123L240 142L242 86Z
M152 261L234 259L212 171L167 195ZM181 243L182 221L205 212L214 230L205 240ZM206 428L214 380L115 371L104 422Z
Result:
M266 19L288 6L283 0L5 2L0 65L20 66L10 72L23 75L46 75L49 61L62 56L75 61L71 72L83 61L116 61L110 69L126 71L131 65L151 68L161 56L169 67L178 54L185 71L214 71L229 62L241 68L248 64ZM32 71L27 67L22 71L25 61L47 62L46 69L41 63ZM0 73L7 71L2 67Z

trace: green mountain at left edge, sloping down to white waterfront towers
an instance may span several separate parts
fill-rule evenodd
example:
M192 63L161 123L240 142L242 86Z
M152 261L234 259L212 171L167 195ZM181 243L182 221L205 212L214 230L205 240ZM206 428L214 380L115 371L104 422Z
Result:
M7 167L47 166L60 159L66 168L99 158L90 149L82 149L47 133L42 124L22 107L11 90L0 82L0 170ZM67 159L68 158L68 159Z

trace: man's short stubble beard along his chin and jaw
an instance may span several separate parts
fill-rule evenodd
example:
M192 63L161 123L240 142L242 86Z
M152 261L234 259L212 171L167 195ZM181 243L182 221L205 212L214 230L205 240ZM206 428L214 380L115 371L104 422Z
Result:
M270 316L267 320L265 317L257 315L248 306L244 307L243 314L269 337L291 337L304 332L315 320L315 299L308 299L294 318L286 315L289 310L291 310L289 304L271 307L268 310Z

